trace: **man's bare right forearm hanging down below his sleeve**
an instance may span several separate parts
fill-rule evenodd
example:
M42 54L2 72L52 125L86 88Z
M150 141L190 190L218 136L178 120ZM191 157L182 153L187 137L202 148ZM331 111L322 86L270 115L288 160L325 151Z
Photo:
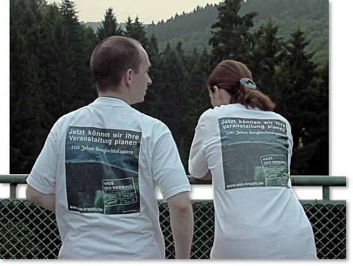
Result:
M175 246L175 258L190 258L194 216L188 192L181 192L167 200L170 225Z

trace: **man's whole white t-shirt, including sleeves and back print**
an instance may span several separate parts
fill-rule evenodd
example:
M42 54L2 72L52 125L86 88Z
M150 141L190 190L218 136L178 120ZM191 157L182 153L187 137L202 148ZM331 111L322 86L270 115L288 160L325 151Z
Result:
M165 258L156 186L190 191L167 126L112 97L60 117L27 182L56 194L59 258Z

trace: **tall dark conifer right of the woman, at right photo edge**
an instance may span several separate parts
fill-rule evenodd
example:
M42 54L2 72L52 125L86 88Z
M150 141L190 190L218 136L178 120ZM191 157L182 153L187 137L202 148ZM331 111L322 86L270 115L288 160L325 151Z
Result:
M284 45L273 76L275 111L287 118L293 135L292 174L328 174L328 63L318 71L299 28ZM300 142L303 146L300 146Z

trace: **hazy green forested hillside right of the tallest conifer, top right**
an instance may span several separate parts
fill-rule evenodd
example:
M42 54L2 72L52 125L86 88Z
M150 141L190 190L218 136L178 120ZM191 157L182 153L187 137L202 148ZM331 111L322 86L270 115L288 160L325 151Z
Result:
M327 0L248 0L239 14L257 12L254 28L257 30L271 17L278 24L278 36L285 41L300 28L311 43L305 52L316 54L312 59L324 65L329 59L329 3Z

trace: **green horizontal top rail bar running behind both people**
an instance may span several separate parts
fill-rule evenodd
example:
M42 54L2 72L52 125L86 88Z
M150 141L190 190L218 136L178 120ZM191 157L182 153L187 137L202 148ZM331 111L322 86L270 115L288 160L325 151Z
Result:
M11 174L0 175L0 183L16 183L26 184L28 174ZM192 178L188 175L190 184L212 184L212 181L202 181ZM293 186L330 186L330 187L345 187L345 176L329 176L329 175L291 175L291 184Z

